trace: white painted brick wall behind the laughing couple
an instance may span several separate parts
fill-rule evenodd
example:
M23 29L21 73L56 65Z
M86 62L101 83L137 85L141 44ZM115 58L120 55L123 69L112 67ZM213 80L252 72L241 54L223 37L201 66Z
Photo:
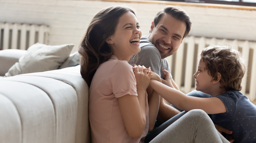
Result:
M162 1L161 1L162 2ZM49 44L74 43L76 50L92 17L102 8L127 5L137 11L142 35L166 4L88 0L0 0L0 22L47 24ZM189 35L256 40L256 8L234 9L177 5L191 17Z

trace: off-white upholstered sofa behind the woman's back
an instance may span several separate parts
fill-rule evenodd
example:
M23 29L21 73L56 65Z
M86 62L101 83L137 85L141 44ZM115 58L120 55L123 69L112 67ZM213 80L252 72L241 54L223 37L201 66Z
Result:
M89 89L80 66L3 77L24 54L10 61L0 54L0 143L89 143Z

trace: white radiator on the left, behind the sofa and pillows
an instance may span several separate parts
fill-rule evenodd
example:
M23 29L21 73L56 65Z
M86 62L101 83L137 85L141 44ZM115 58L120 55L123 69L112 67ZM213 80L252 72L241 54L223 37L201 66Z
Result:
M36 42L48 44L49 27L47 25L0 22L0 29L0 50L27 50Z

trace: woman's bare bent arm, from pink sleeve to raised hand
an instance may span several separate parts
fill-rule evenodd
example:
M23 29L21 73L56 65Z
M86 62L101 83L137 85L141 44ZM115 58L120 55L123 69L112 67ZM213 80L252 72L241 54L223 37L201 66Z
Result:
M125 128L130 136L139 138L146 125L145 96L148 87L151 70L145 71L145 67L135 67L135 78L138 96L124 95L118 98L120 111ZM145 71L145 72L144 72Z

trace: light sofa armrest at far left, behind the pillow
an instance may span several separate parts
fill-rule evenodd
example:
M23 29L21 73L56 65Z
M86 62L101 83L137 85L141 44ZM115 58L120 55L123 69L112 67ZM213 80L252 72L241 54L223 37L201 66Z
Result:
M6 49L0 50L0 76L4 76L6 72L19 61L19 58L25 55L26 50Z

